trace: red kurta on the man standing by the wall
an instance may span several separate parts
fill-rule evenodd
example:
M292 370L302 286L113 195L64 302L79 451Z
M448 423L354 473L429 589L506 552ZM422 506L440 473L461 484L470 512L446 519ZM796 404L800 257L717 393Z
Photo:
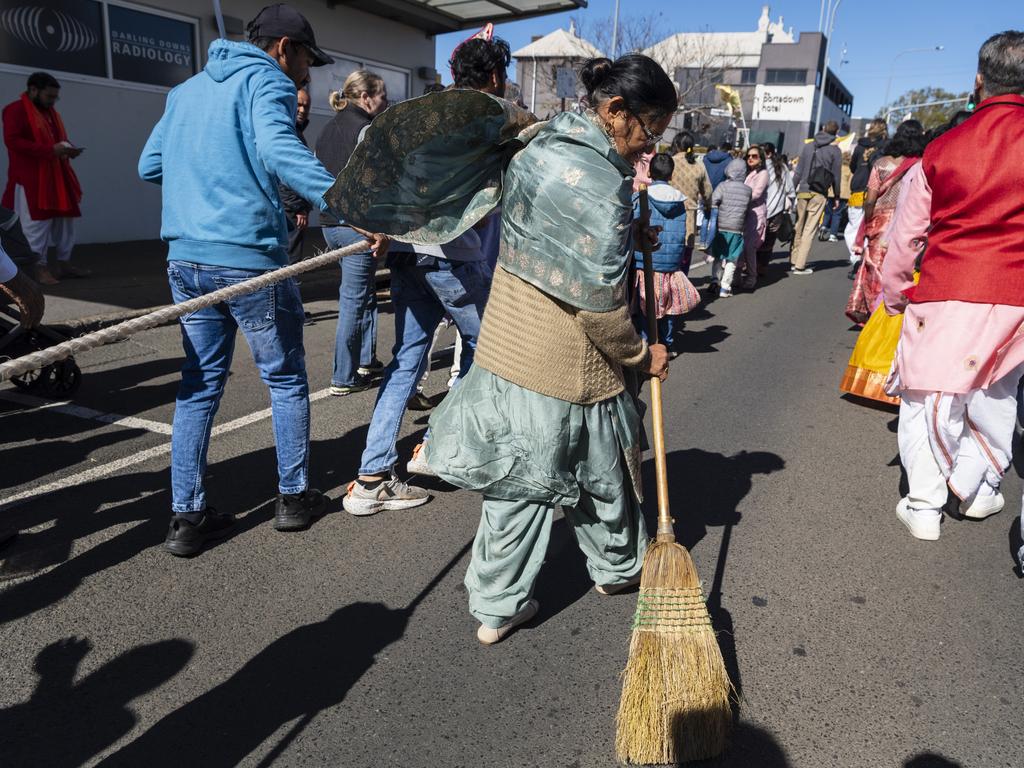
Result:
M40 140L30 123L25 99L12 101L3 109L3 142L7 146L7 186L0 205L14 208L14 186L25 187L29 213L36 221L77 217L82 213L78 203L82 198L78 177L67 158L57 159L53 145L67 140L56 113L41 112L46 127ZM45 135L49 133L49 135ZM53 164L57 163L54 168ZM44 181L45 180L45 181ZM43 184L50 188L44 188ZM62 194L53 195L53 185L60 184ZM46 204L46 200L62 200L62 204Z

